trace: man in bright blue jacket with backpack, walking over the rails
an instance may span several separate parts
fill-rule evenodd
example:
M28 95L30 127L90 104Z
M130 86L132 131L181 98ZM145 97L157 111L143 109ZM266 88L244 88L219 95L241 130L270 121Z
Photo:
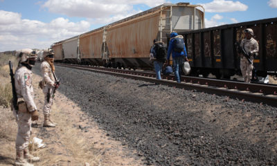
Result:
M170 34L170 42L168 45L168 57L166 58L168 65L169 65L169 59L171 54L173 59L175 79L177 82L181 82L180 74L179 74L181 73L181 70L179 69L179 67L181 67L183 63L183 59L188 61L188 57L186 53L184 37L182 35L178 35L178 33L175 33L175 32L172 32Z

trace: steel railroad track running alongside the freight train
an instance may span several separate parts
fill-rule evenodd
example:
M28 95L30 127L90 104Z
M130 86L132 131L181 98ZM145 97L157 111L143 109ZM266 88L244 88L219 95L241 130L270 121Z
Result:
M260 104L269 104L277 106L277 86L274 84L247 84L244 82L234 82L231 80L216 80L203 77L181 76L181 83L175 81L174 75L161 75L162 80L156 79L156 74L152 71L132 71L116 68L104 68L96 66L81 66L75 64L60 64L70 68L77 68L85 71L105 73L119 77L154 82L156 84L165 84L180 89L203 91L206 93L225 95L226 98L235 98L242 101L258 102Z

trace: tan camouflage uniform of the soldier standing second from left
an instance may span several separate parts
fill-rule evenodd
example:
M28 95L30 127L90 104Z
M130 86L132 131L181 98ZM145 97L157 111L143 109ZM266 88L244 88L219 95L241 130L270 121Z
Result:
M53 75L52 69L50 64L48 62L44 61L42 62L41 66L41 72L42 72L42 77L43 77L43 93L44 93L44 122L45 124L50 124L51 127L55 127L55 123L53 123L50 120L50 114L51 114L51 107L53 105L53 91L55 89L55 77ZM47 97L48 96L48 97ZM49 100L47 100L49 98ZM50 123L48 123L50 120ZM48 126L48 125L46 125Z

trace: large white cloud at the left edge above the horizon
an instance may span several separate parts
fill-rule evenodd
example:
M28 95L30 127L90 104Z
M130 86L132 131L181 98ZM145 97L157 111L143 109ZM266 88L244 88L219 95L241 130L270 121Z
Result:
M18 13L3 10L0 10L0 16L0 51L48 48L54 42L87 32L90 27L88 21L74 23L62 17L44 23L21 19Z

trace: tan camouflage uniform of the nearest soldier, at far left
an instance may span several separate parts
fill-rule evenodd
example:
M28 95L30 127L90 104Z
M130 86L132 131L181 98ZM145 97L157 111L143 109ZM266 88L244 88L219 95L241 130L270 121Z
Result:
M13 112L15 116L18 116L18 131L17 139L15 142L15 148L17 150L17 158L15 165L31 165L30 160L33 162L39 161L38 157L34 157L29 154L28 151L28 141L30 139L30 134L32 132L31 124L31 113L37 110L34 102L34 91L32 86L32 71L30 71L26 66L21 64L15 71L15 89L17 92L18 100L24 100L26 107L29 112L18 111L16 113L15 109Z

